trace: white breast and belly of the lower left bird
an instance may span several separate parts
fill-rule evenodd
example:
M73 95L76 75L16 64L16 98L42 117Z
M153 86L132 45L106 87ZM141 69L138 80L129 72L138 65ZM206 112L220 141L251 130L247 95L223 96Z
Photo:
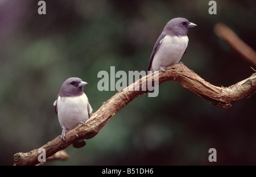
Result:
M72 129L89 118L90 105L85 94L57 99L57 111L61 127Z

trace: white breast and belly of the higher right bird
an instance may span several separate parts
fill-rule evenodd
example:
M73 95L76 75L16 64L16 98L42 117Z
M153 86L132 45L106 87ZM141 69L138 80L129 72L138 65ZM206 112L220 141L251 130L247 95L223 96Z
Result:
M151 70L177 64L188 46L188 36L164 36L155 53Z

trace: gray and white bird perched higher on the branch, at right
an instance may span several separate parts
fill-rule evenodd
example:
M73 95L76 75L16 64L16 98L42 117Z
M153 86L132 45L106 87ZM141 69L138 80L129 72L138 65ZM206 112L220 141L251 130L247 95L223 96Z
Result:
M165 72L168 66L177 64L188 47L188 29L196 26L185 18L171 19L155 43L147 70Z

